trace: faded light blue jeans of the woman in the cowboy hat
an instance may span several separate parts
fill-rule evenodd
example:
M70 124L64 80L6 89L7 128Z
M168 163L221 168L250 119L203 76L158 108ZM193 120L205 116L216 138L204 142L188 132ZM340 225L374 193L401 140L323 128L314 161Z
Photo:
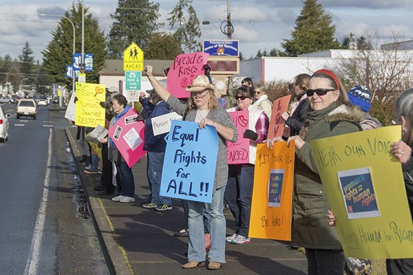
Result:
M226 224L223 211L225 187L215 190L211 203L188 201L189 244L188 261L206 261L204 240L204 208L211 215L211 249L209 261L225 263Z

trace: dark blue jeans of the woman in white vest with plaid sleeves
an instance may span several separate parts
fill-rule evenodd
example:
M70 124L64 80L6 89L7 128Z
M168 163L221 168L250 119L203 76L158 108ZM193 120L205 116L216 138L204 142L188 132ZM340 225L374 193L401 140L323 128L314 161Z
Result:
M253 199L254 169L252 164L229 165L225 201L235 219L235 233L248 237Z

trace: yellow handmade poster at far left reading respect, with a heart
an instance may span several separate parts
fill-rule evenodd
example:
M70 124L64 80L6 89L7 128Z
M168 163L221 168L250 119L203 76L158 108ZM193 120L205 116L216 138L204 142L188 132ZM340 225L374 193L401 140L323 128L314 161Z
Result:
M105 85L77 82L75 124L105 127L105 108L100 106L100 102L106 101L105 97Z

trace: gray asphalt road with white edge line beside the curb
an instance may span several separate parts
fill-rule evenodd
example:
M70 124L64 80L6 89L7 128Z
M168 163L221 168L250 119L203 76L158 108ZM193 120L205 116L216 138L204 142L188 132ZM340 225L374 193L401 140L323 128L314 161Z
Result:
M38 107L36 120L17 120L14 104L2 107L13 115L0 144L0 274L108 274L64 111Z

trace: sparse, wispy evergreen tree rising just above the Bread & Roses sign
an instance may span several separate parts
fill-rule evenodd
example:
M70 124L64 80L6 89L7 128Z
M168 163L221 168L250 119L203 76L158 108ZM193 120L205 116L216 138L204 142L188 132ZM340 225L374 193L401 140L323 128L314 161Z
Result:
M178 41L182 41L184 52L198 52L201 50L199 38L201 36L200 21L196 16L195 9L190 5L192 0L179 0L175 8L169 14L169 25L173 28L178 25L174 36ZM184 10L188 7L188 21L185 18ZM198 39L197 39L198 38Z

